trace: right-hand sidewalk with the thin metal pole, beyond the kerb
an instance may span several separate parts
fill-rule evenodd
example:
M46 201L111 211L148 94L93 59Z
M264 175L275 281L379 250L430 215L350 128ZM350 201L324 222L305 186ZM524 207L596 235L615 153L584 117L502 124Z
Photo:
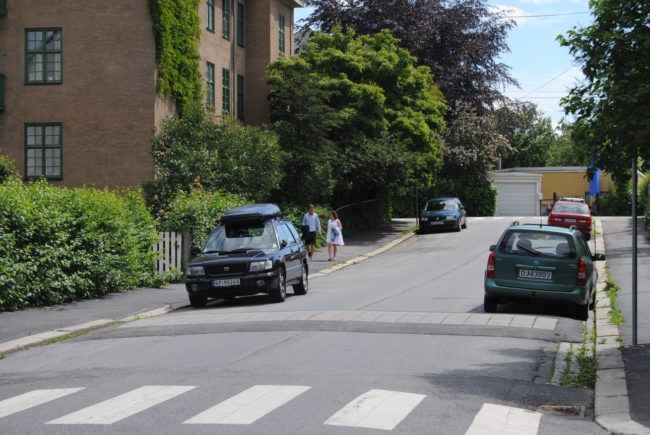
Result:
M632 343L632 219L603 218L607 264L612 280L621 289L617 304L625 317L618 327L623 337L622 357L629 415L650 433L650 233L639 219L638 244L638 346ZM599 334L600 336L600 334ZM618 347L618 346L617 346ZM599 362L600 365L600 362ZM597 388L598 389L598 388ZM597 400L598 402L598 400ZM598 407L598 405L596 405ZM629 418L629 417L628 417ZM634 429L621 433L641 433Z

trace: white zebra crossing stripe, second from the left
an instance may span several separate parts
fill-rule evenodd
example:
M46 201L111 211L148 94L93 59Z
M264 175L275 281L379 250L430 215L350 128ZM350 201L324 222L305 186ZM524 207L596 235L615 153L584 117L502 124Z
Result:
M47 424L112 424L142 412L193 388L192 386L148 385L89 406Z

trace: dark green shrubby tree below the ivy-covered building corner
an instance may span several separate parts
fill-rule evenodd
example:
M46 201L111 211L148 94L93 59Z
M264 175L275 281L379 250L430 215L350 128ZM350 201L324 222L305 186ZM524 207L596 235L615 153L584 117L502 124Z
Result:
M152 140L154 178L145 183L150 204L163 210L179 191L200 181L253 200L267 199L279 186L281 151L267 130L245 127L226 117L218 124L200 104L190 104L182 119L165 120Z

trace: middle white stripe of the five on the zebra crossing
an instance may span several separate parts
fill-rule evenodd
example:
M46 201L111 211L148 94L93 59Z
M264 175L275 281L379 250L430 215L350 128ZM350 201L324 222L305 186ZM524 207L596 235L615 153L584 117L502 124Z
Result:
M311 387L255 385L186 420L186 424L251 424Z

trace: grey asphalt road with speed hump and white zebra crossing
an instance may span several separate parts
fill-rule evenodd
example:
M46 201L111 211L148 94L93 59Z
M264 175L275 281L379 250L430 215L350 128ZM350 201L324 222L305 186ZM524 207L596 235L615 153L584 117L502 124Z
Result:
M282 304L216 301L13 354L0 433L602 433L589 391L546 383L582 323L549 306L482 313L508 223L418 235Z

